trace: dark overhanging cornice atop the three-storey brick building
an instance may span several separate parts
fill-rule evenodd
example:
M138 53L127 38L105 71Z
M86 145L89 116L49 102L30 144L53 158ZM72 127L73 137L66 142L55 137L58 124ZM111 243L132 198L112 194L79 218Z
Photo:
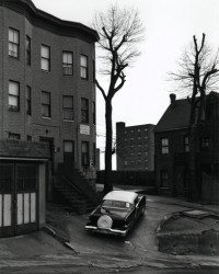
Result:
M79 37L89 42L97 42L100 39L96 31L81 23L65 21L38 10L31 0L0 0L0 7L19 12L25 15L33 25L60 36Z

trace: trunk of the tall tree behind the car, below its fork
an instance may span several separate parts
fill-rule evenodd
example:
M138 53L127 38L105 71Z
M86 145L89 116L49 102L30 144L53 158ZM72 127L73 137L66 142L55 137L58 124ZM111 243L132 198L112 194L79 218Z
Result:
M112 145L113 145L113 128L112 128L112 100L105 100L105 123L106 123L106 145L105 145L105 178L104 178L104 194L113 190L112 183Z

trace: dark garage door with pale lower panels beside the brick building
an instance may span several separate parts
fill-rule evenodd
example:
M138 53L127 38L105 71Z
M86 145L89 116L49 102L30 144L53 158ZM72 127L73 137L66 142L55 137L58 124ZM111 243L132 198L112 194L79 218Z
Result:
M0 163L0 237L38 228L37 165Z

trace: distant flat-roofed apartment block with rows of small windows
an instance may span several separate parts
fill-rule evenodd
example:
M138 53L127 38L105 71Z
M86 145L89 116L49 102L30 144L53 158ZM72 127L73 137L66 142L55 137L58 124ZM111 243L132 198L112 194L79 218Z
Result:
M116 160L118 171L154 170L154 125L126 126L116 123Z

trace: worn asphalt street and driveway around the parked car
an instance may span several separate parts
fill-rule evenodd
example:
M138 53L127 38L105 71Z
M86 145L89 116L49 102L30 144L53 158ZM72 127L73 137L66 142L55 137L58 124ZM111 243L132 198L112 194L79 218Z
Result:
M218 274L219 260L203 255L171 255L158 251L154 230L168 214L189 209L168 198L148 197L147 210L126 238L84 231L88 215L55 216L68 231L72 250L54 249L50 254L2 261L2 274ZM61 219L62 218L62 219ZM48 246L48 242L47 242Z

